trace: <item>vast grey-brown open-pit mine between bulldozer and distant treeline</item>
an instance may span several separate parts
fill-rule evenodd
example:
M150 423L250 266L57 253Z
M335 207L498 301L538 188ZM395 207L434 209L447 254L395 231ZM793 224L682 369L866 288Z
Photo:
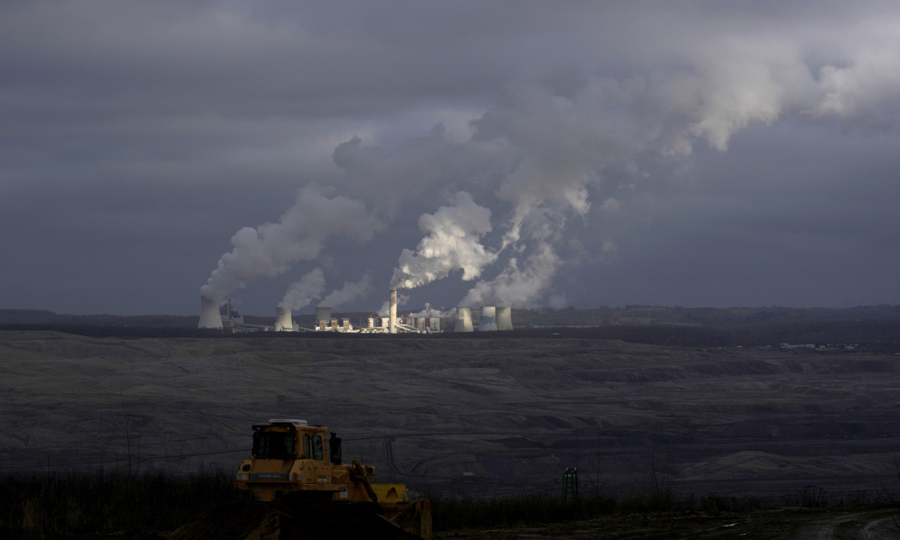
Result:
M0 332L2 473L230 468L300 418L436 491L898 487L900 358L567 338ZM476 482L457 482L473 473Z

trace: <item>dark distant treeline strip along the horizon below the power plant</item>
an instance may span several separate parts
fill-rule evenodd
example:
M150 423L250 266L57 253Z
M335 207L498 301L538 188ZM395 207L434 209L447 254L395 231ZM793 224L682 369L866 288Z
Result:
M629 343L674 347L779 347L853 345L856 349L878 348L900 351L900 319L798 322L754 325L735 329L710 329L680 325L608 325L581 328L516 329L507 332L466 334L347 334L338 332L248 332L231 334L222 330L196 328L148 328L94 326L85 324L5 324L4 330L53 330L94 338L227 338L227 339L509 339L582 338L620 339Z

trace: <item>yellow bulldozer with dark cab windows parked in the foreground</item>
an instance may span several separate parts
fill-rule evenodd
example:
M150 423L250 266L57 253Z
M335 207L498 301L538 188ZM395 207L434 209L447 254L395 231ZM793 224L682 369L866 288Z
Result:
M428 499L401 483L374 483L375 468L353 460L342 464L341 439L306 420L270 419L253 426L252 458L238 465L235 485L257 500L290 498L375 510L395 527L430 540Z

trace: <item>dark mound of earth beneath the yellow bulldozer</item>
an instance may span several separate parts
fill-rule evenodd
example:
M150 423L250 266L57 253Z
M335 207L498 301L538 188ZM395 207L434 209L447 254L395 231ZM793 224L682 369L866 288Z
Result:
M167 540L334 540L365 531L367 540L420 540L394 527L377 505L311 502L284 497L275 502L220 505L176 529Z

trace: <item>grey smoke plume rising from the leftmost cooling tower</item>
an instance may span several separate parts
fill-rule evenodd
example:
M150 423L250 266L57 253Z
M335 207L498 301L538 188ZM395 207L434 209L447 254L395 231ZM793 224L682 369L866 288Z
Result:
M234 249L219 259L200 293L220 302L260 275L284 274L293 263L318 257L329 236L342 234L357 241L372 238L380 224L363 202L344 196L329 198L322 191L318 185L308 185L277 223L238 230L231 237Z

